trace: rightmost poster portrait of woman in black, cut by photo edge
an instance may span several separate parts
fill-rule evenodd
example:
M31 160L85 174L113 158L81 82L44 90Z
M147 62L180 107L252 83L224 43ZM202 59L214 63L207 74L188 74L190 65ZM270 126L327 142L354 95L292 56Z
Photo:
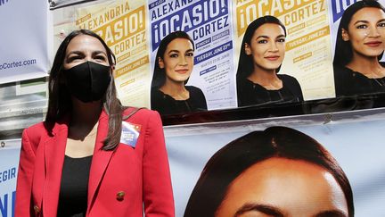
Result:
M343 13L333 60L336 96L385 93L385 8L358 1Z

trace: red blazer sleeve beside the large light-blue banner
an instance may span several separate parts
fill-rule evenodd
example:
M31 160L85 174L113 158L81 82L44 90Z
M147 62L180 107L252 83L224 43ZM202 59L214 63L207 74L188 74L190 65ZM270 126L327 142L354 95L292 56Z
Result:
M175 216L162 123L151 112L143 146L143 203L146 217Z

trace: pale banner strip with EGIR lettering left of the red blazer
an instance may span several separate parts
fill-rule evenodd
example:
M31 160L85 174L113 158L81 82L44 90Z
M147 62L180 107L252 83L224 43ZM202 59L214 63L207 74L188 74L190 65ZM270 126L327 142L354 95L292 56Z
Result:
M0 140L0 214L13 217L20 139Z

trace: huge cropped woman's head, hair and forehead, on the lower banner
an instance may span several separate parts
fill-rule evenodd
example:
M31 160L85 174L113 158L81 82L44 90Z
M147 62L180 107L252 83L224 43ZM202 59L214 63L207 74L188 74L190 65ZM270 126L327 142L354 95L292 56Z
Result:
M184 217L353 217L339 163L314 138L270 127L236 138L206 163Z

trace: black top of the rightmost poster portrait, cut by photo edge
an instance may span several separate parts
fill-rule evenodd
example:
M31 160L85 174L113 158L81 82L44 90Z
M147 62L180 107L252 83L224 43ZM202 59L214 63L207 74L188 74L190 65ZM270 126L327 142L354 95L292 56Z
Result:
M385 63L381 63L385 66ZM334 65L334 85L336 96L359 96L373 93L385 93L385 77L369 79L365 75Z

